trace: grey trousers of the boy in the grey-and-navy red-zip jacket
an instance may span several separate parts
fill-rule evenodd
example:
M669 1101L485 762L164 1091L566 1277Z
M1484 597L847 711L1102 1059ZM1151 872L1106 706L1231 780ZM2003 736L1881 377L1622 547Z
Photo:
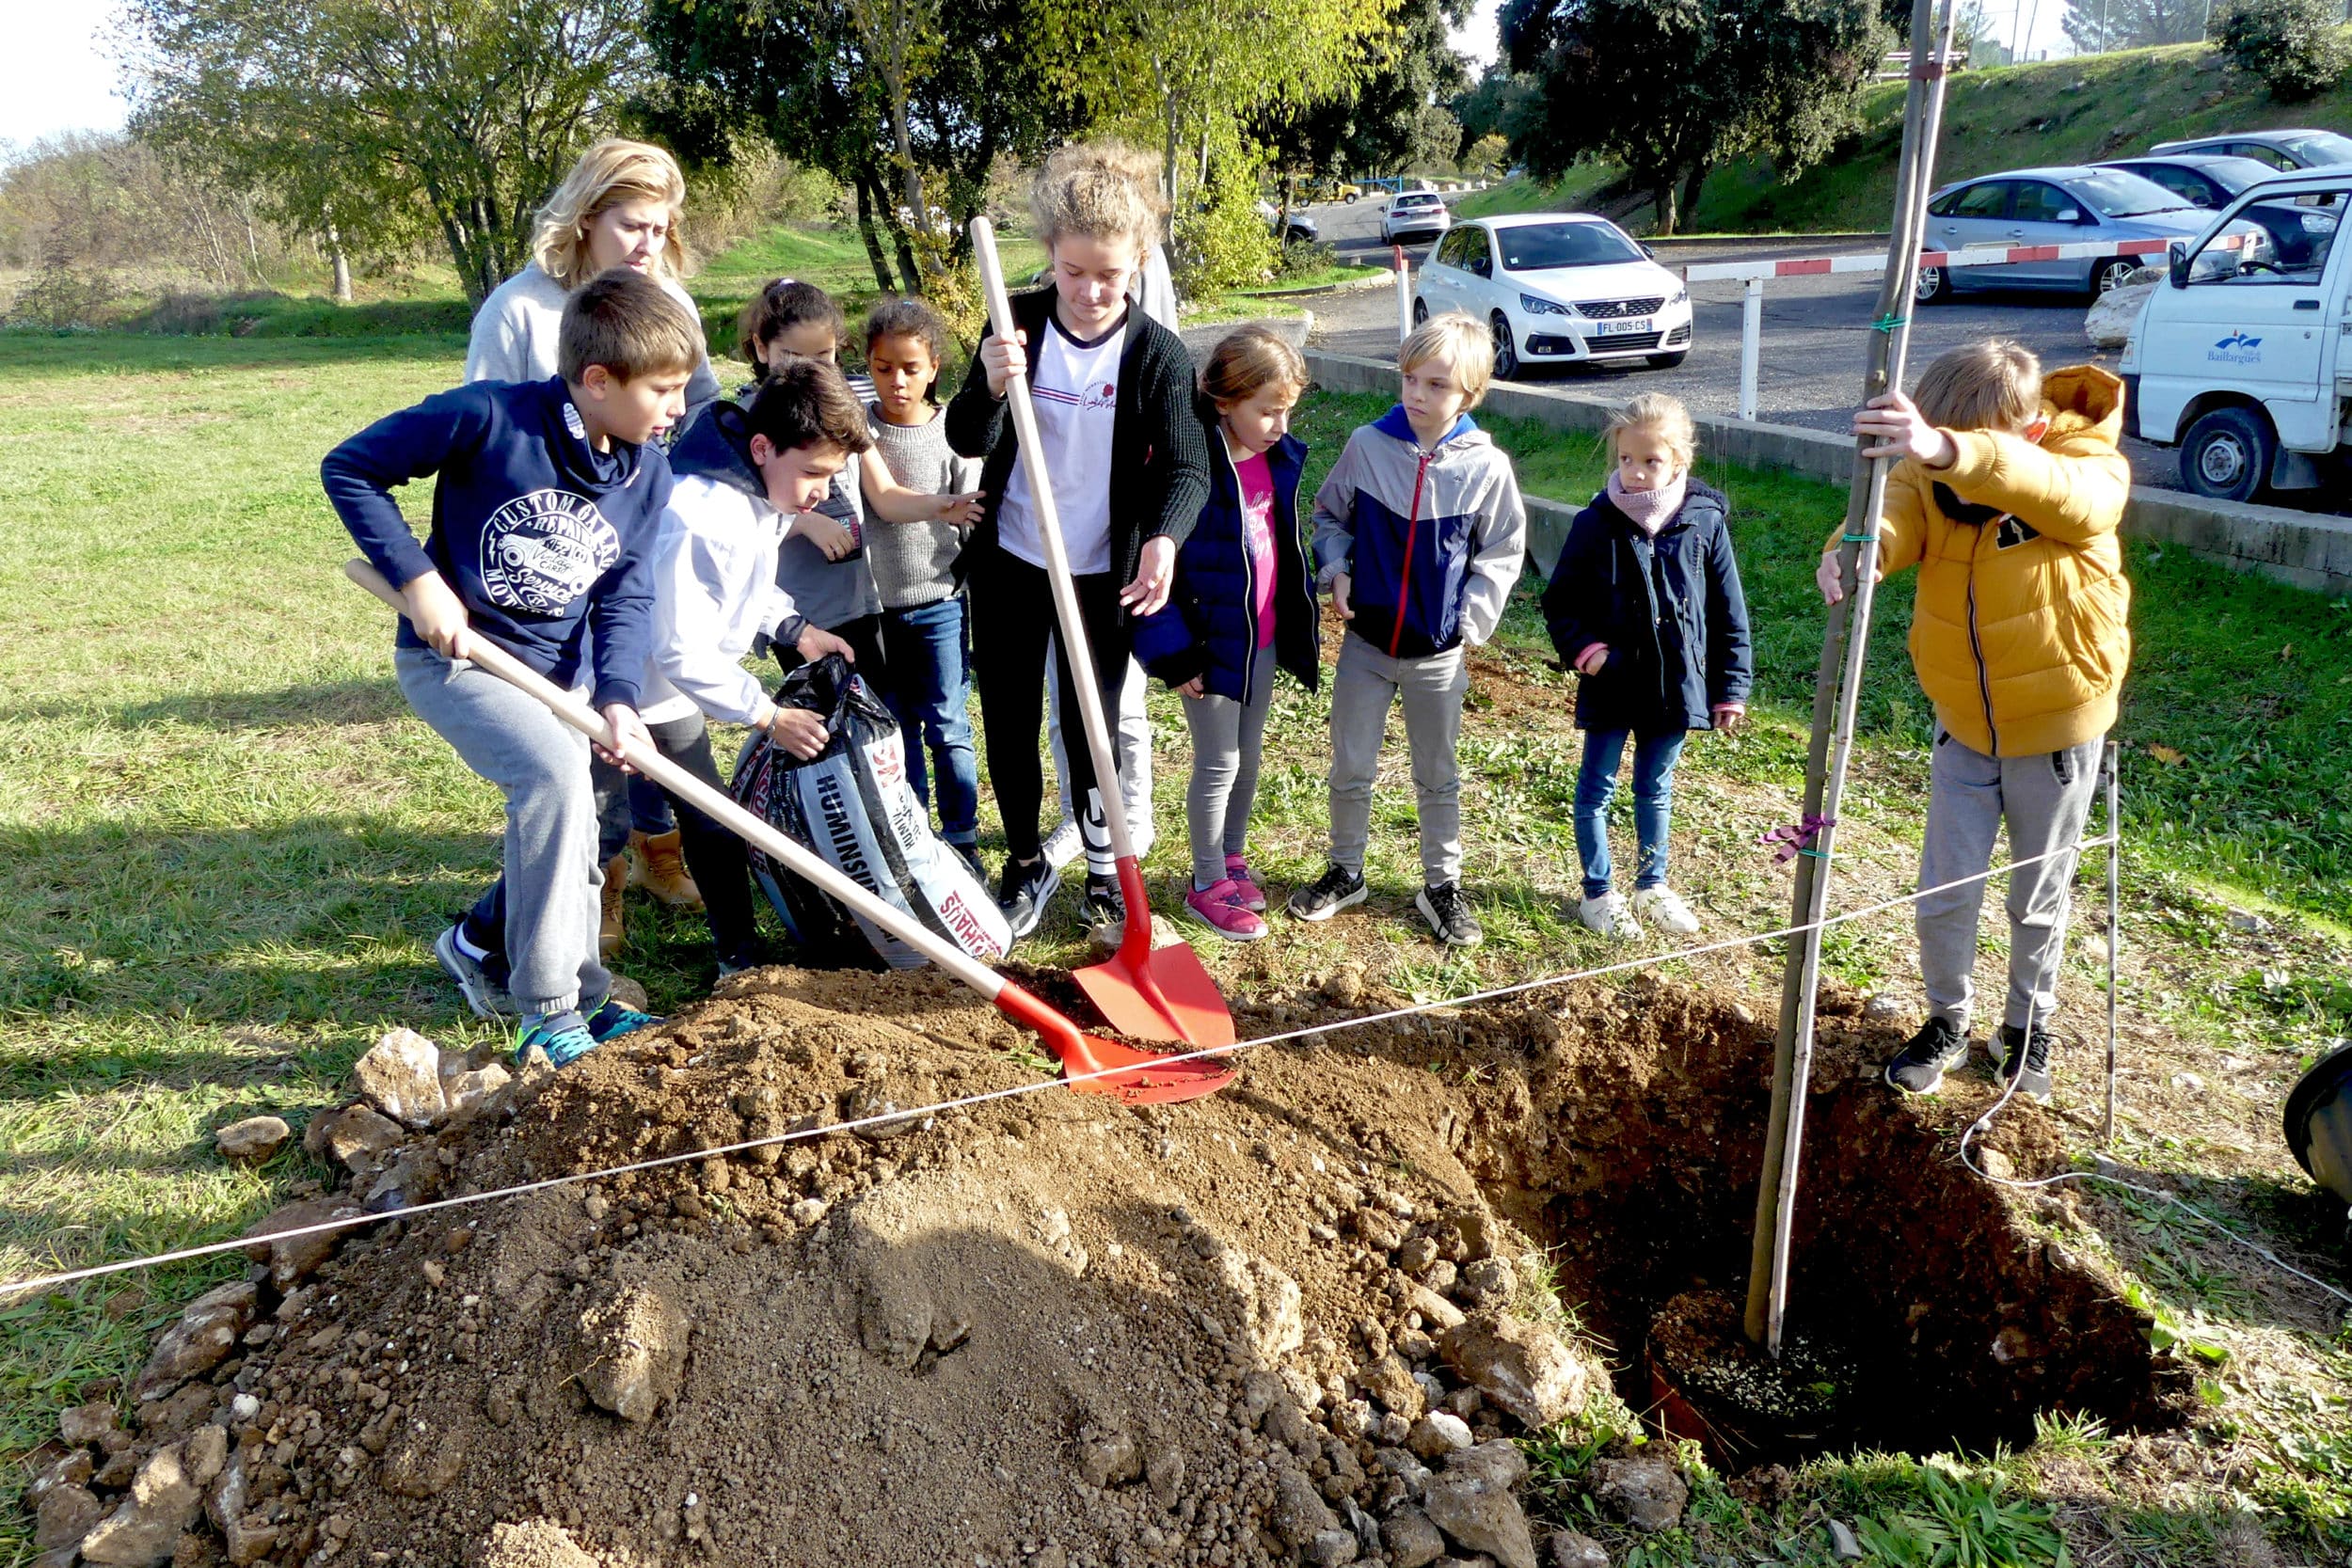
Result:
M1430 886L1463 875L1463 776L1454 743L1463 733L1470 665L1463 651L1390 658L1355 632L1341 639L1331 672L1331 865L1364 875L1371 837L1371 780L1390 703L1404 703L1404 743L1414 755L1414 804L1421 809L1421 875Z

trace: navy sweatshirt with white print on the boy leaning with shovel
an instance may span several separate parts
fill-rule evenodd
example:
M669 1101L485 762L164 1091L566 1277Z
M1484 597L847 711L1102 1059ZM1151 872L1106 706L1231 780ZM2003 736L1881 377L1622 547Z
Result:
M433 527L419 543L393 487L426 475ZM595 705L637 703L670 465L659 447L590 447L562 378L435 393L329 451L320 482L395 588L440 571L473 632L557 686L579 684L593 630ZM423 646L407 616L400 646Z

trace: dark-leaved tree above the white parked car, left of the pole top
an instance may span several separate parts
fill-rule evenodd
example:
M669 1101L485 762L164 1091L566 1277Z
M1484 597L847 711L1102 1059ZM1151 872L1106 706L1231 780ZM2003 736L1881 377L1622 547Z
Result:
M1668 235L1729 158L1818 162L1886 54L1877 0L1508 0L1501 26L1541 92L1519 158L1545 179L1616 158Z

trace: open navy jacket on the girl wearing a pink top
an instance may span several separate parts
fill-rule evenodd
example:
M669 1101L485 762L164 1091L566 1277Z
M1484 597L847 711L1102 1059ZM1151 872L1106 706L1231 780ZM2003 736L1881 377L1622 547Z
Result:
M1181 686L1195 675L1209 696L1249 701L1251 665L1258 658L1258 625L1251 609L1258 583L1242 543L1242 477L1225 451L1216 411L1209 425L1209 505L1176 550L1176 588L1169 602L1136 621L1136 658L1155 677ZM1322 682L1322 646L1315 639L1315 588L1305 541L1298 536L1298 470L1308 449L1284 435L1265 454L1275 482L1275 663L1308 691Z

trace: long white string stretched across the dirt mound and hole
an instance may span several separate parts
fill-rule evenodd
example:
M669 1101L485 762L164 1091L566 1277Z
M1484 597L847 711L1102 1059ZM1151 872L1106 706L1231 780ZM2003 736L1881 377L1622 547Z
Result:
M1472 1006L1472 1004L1482 1004L1482 1001L1496 1001L1501 997L1517 997L1522 992L1543 990L1548 985L1571 985L1576 980L1592 980L1592 978L1599 978L1599 976L1613 976L1613 973L1623 973L1628 969L1649 969L1653 964L1672 964L1677 959L1705 957L1710 952L1726 952L1726 950L1733 950L1733 947L1752 947L1757 943L1776 943L1776 940L1788 938L1788 936L1802 936L1804 931L1842 926L1846 922L1863 919L1867 914L1879 914L1884 910L1893 910L1893 907L1900 907L1905 903L1917 903L1917 900L1922 900L1922 898L1926 898L1931 893L1945 893L1950 889L1966 886L1971 882L1990 882L1992 877L2002 877L2002 875L2013 872L2013 870L2025 867L2025 865L2037 865L2042 860L2056 860L2058 856L2072 856L2072 853L2079 853L2084 849L2103 849L2110 842L2117 842L2117 835L2112 830L2107 835L2103 835L2103 837L2096 837L2096 839L2077 839L2074 844L2070 844L2065 849L2051 849L2051 851L2044 851L2039 856L2027 856L2023 860L2011 860L2009 865L1994 865L1994 867L1973 872L1969 877L1955 877L1952 882L1945 882L1945 884L1938 884L1938 886L1931 886L1931 889L1919 889L1915 893L1903 893L1900 898L1886 898L1886 900L1879 900L1879 903L1872 903L1872 905L1863 905L1860 910L1846 910L1844 914L1830 914L1830 917L1825 917L1820 922L1809 922L1809 924L1802 924L1802 926L1783 926L1780 931L1762 931L1762 933L1755 933L1755 936L1726 938L1722 943L1703 943L1698 947L1679 947L1675 952L1658 952L1658 954L1649 954L1649 957L1639 957L1639 959L1623 959L1618 964L1602 964L1599 969L1583 969L1583 971L1566 973L1566 976L1545 976L1541 980L1517 980L1512 985L1498 985L1494 990L1470 992L1465 997L1449 997L1449 999L1442 999L1442 1001L1418 1001L1414 1006L1399 1006L1399 1009L1390 1009L1385 1013L1364 1013L1362 1018L1343 1018L1338 1023L1305 1025L1301 1030L1289 1030L1289 1032L1282 1032L1282 1034L1261 1034L1258 1039L1242 1039L1242 1041L1235 1041L1230 1046L1204 1046L1200 1051L1185 1051L1181 1056L1160 1056L1160 1058L1152 1058L1152 1063L1148 1063L1145 1072L1162 1070L1162 1067L1176 1067L1176 1065L1183 1065L1183 1063L1207 1063L1207 1060L1216 1060L1216 1058L1232 1056L1232 1053L1240 1053L1240 1051L1254 1051L1256 1046L1282 1044L1282 1041L1289 1041L1289 1039L1308 1039L1308 1037L1315 1037L1315 1034L1331 1034L1331 1032L1338 1032L1338 1030L1359 1030L1359 1027L1376 1025L1376 1023L1390 1023L1390 1020L1397 1020L1397 1018L1411 1018L1416 1013L1435 1013L1439 1009L1456 1009L1456 1006ZM176 1248L176 1251L169 1251L169 1253L155 1253L151 1258L127 1258L127 1260L120 1260L120 1262L99 1262L99 1265L92 1265L92 1267L85 1267L85 1269L66 1269L66 1272L59 1272L59 1274L33 1274L28 1279L12 1279L7 1284L0 1284L0 1300L7 1300L12 1295L24 1295L28 1291L54 1291L56 1286L71 1286L71 1284L80 1284L85 1279L101 1279L106 1274L125 1274L129 1269L148 1269L148 1267L158 1267L158 1265L165 1265L165 1262L188 1262L193 1258L214 1258L219 1253L245 1251L249 1246L266 1246L266 1244L273 1244L273 1241L299 1241L303 1237L322 1237L322 1234L332 1234L332 1232L341 1232L341 1229L355 1229L360 1225L383 1225L388 1220L407 1220L407 1218L435 1213L435 1211L442 1211L442 1208L463 1208L463 1206L473 1206L473 1204L489 1204L494 1199L527 1197L532 1192L546 1192L550 1187L569 1187L574 1182L597 1182L597 1180L609 1180L609 1178L616 1178L616 1175L635 1175L640 1171L659 1171L663 1166L680 1166L680 1164L689 1164L689 1161L699 1161L699 1159L724 1159L727 1154L743 1154L748 1150L764 1150L764 1147L771 1147L771 1145L800 1143L804 1138L830 1138L833 1133L856 1133L858 1128L868 1128L868 1126L901 1124L901 1121L913 1121L917 1117L936 1117L936 1114L953 1112L953 1110L971 1110L974 1105L988 1105L990 1100L1011 1100L1011 1098L1018 1098L1018 1095L1042 1093L1047 1088L1070 1088L1075 1084L1089 1084L1094 1079L1136 1077L1136 1072L1138 1070L1134 1065L1098 1067L1094 1072L1073 1072L1068 1077L1037 1079L1037 1081L1030 1081L1030 1084L1011 1084L1007 1088L990 1088L990 1091L974 1093L974 1095L960 1095L955 1100L938 1100L936 1105L920 1105L915 1110L894 1110L894 1112L882 1112L882 1114L875 1114L875 1117L856 1117L851 1121L830 1121L826 1126L809 1126L809 1128L800 1128L800 1131L793 1131L793 1133L771 1133L767 1138L746 1138L743 1143L727 1143L727 1145L717 1145L717 1147L708 1147L708 1150L691 1150L687 1154L661 1154L656 1159L640 1159L635 1164L609 1166L604 1171L576 1171L576 1173L569 1173L569 1175L548 1175L548 1178L541 1178L541 1180L534 1180L534 1182L517 1182L513 1187L494 1187L489 1192L466 1192L466 1194L459 1194L459 1197L430 1199L426 1204L409 1204L405 1208L393 1208L393 1211L386 1211L386 1213L355 1213L355 1215L343 1215L343 1218L334 1218L334 1220L320 1220L315 1225L296 1225L296 1227L289 1227L289 1229L273 1229L273 1232L261 1234L261 1237L240 1237L235 1241L207 1241L205 1246L183 1246L183 1248Z

